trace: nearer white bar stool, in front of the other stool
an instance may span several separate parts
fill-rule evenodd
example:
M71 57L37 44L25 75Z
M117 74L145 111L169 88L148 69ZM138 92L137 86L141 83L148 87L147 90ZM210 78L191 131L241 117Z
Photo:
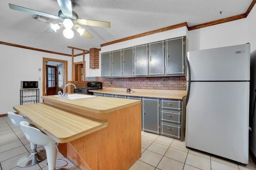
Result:
M46 150L47 165L49 170L60 169L68 165L68 162L66 162L65 160L57 160L65 162L66 164L64 166L56 168L56 141L54 141L52 138L50 138L48 135L46 135L39 129L29 126L29 123L26 121L20 122L20 129L23 131L28 141L35 143L37 145L43 145L43 147Z

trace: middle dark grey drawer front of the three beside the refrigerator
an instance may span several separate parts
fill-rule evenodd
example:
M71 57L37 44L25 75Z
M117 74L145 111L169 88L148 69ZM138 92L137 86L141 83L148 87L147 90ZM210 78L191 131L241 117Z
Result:
M180 111L171 111L161 109L161 121L168 121L171 123L180 124L181 121L181 112Z

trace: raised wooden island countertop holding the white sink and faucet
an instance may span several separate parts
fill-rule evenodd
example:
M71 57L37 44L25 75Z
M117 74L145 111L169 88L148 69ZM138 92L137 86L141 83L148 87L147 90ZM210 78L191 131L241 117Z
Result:
M93 113L110 113L128 106L133 106L140 103L139 100L121 99L121 98L105 98L97 96L95 98L84 98L77 100L68 100L54 96L42 96L46 102L55 102L64 104L65 106L90 111Z

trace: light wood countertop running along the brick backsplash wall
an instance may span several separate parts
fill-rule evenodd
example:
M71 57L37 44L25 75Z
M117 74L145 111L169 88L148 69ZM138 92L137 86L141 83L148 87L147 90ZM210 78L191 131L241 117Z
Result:
M165 98L182 100L187 92L186 90L152 90L152 89L132 89L131 92L126 92L126 88L104 88L100 90L89 90L90 92L117 94L125 96L139 96L149 98Z

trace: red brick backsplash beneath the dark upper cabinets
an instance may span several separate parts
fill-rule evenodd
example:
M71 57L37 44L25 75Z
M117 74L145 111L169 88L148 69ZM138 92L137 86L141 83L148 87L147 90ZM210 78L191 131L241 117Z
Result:
M185 76L132 78L86 77L86 81L102 82L103 87L186 90Z

